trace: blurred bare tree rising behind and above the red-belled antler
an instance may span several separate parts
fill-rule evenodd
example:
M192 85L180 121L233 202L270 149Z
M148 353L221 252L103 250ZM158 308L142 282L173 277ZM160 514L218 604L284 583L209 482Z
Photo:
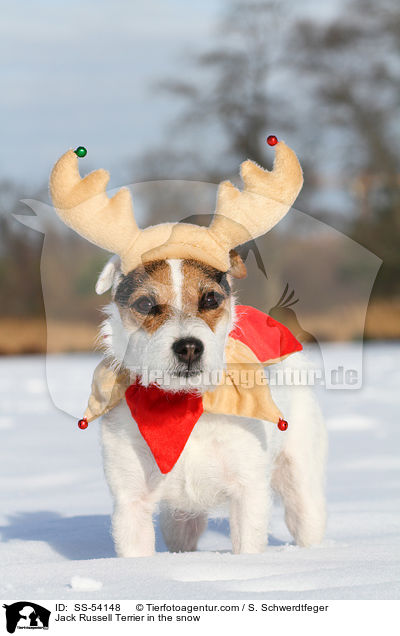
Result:
M216 44L189 53L187 78L157 83L157 90L183 107L162 148L145 157L147 176L193 174L219 180L236 172L247 157L265 161L266 135L293 128L287 103L273 86L282 65L288 12L283 0L228 2Z

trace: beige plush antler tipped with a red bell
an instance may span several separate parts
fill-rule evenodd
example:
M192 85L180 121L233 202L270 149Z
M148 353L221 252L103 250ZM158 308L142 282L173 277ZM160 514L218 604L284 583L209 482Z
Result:
M253 161L241 165L244 189L230 181L218 189L215 217L210 232L231 249L268 232L290 210L303 185L300 163L283 141L276 145L272 171Z

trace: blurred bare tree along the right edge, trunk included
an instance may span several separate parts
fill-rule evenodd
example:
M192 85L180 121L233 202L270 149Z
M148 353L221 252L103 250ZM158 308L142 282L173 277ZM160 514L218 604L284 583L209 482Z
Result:
M400 5L351 0L328 23L298 24L293 49L314 95L313 121L352 192L353 238L383 259L376 291L400 293ZM332 145L332 144L331 144Z

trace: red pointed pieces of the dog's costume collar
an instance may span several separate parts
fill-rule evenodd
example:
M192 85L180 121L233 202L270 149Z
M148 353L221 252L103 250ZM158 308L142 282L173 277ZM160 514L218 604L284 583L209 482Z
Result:
M278 360L302 349L287 327L245 305L236 307L235 327L229 335L247 345L260 362ZM154 384L144 387L137 381L128 387L125 397L160 471L169 473L203 413L201 396L163 391Z

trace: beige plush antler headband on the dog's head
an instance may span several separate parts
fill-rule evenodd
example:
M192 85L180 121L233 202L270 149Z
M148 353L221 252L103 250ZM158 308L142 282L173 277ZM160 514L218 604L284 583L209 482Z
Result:
M77 154L68 150L52 170L54 207L66 225L118 254L125 274L143 262L162 258L195 258L227 271L230 250L273 228L288 212L303 184L295 153L281 141L276 144L272 171L248 160L240 170L242 191L229 181L220 184L209 227L161 223L141 230L129 190L121 188L110 199L106 193L109 173L95 170L82 179Z

